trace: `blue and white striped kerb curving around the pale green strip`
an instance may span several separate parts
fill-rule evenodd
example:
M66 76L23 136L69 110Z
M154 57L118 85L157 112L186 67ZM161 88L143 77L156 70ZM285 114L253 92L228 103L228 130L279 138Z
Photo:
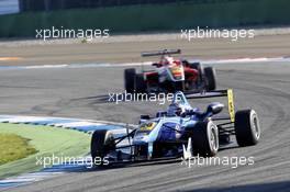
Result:
M105 121L102 121L102 123L99 123L98 121L91 121L91 120L78 120L78 118L62 118L62 117L43 117L43 116L21 116L21 115L0 115L0 123L1 122L8 122L8 123L27 123L27 124L34 124L40 121L55 121L55 123L49 123L47 125L55 126L55 127L66 127L71 128L79 127L79 132L81 131L81 127L86 126L96 126L97 128L103 128L103 126L107 126L107 128L110 129L110 126L113 128L111 129L113 134L118 136L122 136L126 134L126 128L124 127L126 124L124 123L118 123L114 124L112 122L105 123ZM68 121L68 123L58 123L59 121ZM120 126L120 128L116 128ZM92 133L92 131L87 132L88 134ZM127 145L127 140L123 140L121 143L122 145ZM120 144L120 145L121 145ZM82 157L82 159L88 159L89 156ZM80 162L79 162L80 161ZM68 163L69 166L66 166ZM37 172L31 172L31 173L23 173L21 176L16 177L10 177L4 180L0 180L0 190L2 189L9 189L19 187L22 184L29 184L35 181L41 181L47 178L53 178L55 176L59 176L66 171L74 170L74 169L85 169L86 166L83 165L83 161L81 159L77 159L77 161L74 161L72 166L70 166L71 162L65 162L65 165L55 165L52 168L46 168ZM48 170L48 171L47 171Z

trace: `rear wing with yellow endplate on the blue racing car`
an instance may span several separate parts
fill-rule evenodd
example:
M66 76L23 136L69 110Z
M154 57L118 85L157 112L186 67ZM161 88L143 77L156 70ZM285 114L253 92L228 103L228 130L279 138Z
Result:
M231 122L235 122L235 104L234 104L234 93L232 89L226 90L216 90L211 92L201 92L201 93L185 93L187 99L202 99L202 98L227 98L228 115Z

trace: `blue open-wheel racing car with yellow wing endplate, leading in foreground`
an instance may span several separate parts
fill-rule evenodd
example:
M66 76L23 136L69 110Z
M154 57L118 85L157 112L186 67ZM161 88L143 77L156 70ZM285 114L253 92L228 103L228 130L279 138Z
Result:
M212 97L227 97L226 115L221 114L224 104L220 102L212 102L201 111L187 100ZM231 135L235 135L238 146L256 145L260 138L257 113L250 109L235 112L231 89L187 97L178 91L167 111L157 112L155 117L142 115L138 127L131 132L127 128L124 136L114 137L107 129L96 131L91 156L107 159L108 163L179 158L185 145L190 143L193 156L211 157L220 147L234 144ZM124 140L126 144L120 145Z

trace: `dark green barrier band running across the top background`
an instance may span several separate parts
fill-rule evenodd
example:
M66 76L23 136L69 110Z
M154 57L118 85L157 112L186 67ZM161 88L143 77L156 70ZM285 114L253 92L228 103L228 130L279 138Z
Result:
M36 35L35 30L109 29L115 32L168 31L290 24L289 0L220 0L24 12L0 16L0 37Z

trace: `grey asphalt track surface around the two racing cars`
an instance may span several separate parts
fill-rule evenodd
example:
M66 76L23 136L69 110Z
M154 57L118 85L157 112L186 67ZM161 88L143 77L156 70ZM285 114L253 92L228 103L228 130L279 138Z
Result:
M219 88L233 88L236 109L253 108L261 124L257 146L221 150L219 157L254 156L254 166L193 166L179 161L67 172L10 191L290 191L290 64L219 64ZM165 109L152 102L100 103L123 91L123 67L0 70L0 113L136 123ZM205 101L191 101L192 105ZM199 103L199 104L198 104Z

